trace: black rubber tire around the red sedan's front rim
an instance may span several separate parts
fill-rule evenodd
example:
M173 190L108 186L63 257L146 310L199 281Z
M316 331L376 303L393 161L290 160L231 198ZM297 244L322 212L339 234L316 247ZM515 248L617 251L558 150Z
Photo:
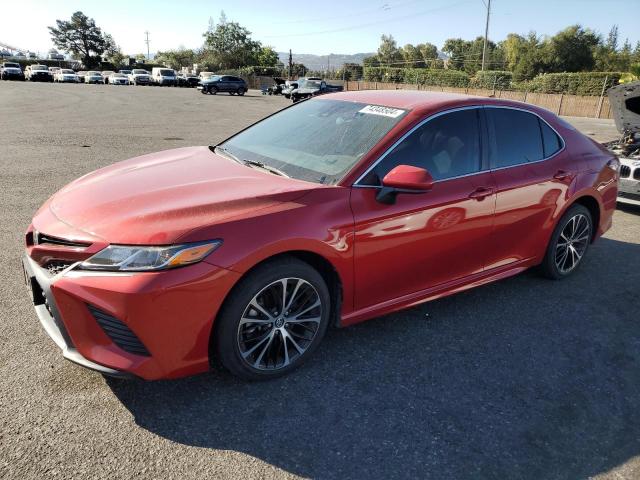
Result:
M297 356L296 351L293 350L292 346L295 345L296 348L298 348L299 345L295 344L295 342L292 344L290 340L289 342L287 342L286 339L282 338L283 334L281 333L284 329L287 332L289 339L298 339L298 334L295 332L294 334L296 335L296 337L291 336L292 329L299 328L299 324L296 325L295 322L287 324L285 321L284 324L280 324L279 328L276 328L278 327L277 323L256 325L251 322L245 322L245 330L241 331L241 318L247 315L248 309L251 308L250 302L257 298L265 289L272 288L272 285L281 285L280 280L283 279L287 279L285 284L290 289L287 290L290 295L288 300L289 308L292 308L292 302L295 300L295 298L303 298L304 301L307 301L307 299L309 298L307 296L308 292L311 292L312 294L312 296L310 297L311 300L317 297L320 301L320 306L316 307L320 309L320 313L314 314L319 315L320 321L317 323L313 323L312 326L317 325L317 328L315 332L312 333L313 336L307 339L308 343L305 343L304 351L300 353L300 350L297 350ZM298 289L295 285L296 280L302 280L302 284L304 285L304 287ZM296 297L296 292L302 292L303 288L308 289L308 291L305 292L305 295L303 296L302 293L300 293L301 297ZM282 301L281 303L284 303L284 301ZM301 308L304 310L306 304L302 303L301 305ZM266 309L269 309L269 307L267 307L266 305L264 306ZM254 309L252 308L252 310ZM317 310L315 311L317 312ZM329 295L327 285L322 276L311 265L293 257L284 257L266 262L263 265L258 266L255 270L253 270L245 278L238 282L238 284L234 287L232 292L225 300L214 326L214 332L211 342L213 354L212 356L214 356L222 364L222 366L224 366L231 373L245 380L268 380L271 378L280 377L300 366L313 354L327 331L330 311L331 297ZM253 313L255 314L256 311L254 310ZM278 313L281 315L281 317L284 316L284 311ZM287 314L288 313L289 312L287 312ZM296 315L296 318L298 316L303 316L301 313L294 315ZM271 320L262 320L262 322L269 322L274 319L275 317L273 317ZM247 327L246 325L249 325L249 327ZM289 327L287 327L287 325L289 325ZM307 323L307 325L309 325L309 323ZM258 335L271 335L271 338L267 339L267 337L261 337L262 340L258 341L257 344L253 344L253 346L260 345L263 340L267 340L267 342L263 343L262 345L266 345L265 350L271 349L266 354L264 352L261 352L261 355L257 360L257 362L259 363L261 361L261 358L265 359L265 366L263 368L256 368L256 363L251 365L250 362L248 360L245 360L245 357L242 356L241 338L243 338L242 334L246 332L247 328L254 330L264 328L266 330L258 330ZM305 328L306 330L306 327L302 328ZM298 332L301 331L302 330L299 330ZM299 339L297 341L303 343L303 341ZM283 344L285 345L284 349L282 348ZM274 346L275 349L273 348ZM278 367L278 355L284 355L284 350L287 349L287 346L289 347L288 352L292 351L294 356L290 359L290 354L287 352L286 358L290 363L287 364L283 361L282 365ZM244 348L251 350L251 348L247 347L246 344ZM259 346L257 348L257 350L254 348L256 353L262 350L263 347ZM246 354L247 351L245 351L245 355ZM275 357L273 357L274 355ZM269 366L270 360L267 358L270 356L272 358L276 358L276 360L273 360L274 365L272 367ZM246 358L252 360L251 356Z

